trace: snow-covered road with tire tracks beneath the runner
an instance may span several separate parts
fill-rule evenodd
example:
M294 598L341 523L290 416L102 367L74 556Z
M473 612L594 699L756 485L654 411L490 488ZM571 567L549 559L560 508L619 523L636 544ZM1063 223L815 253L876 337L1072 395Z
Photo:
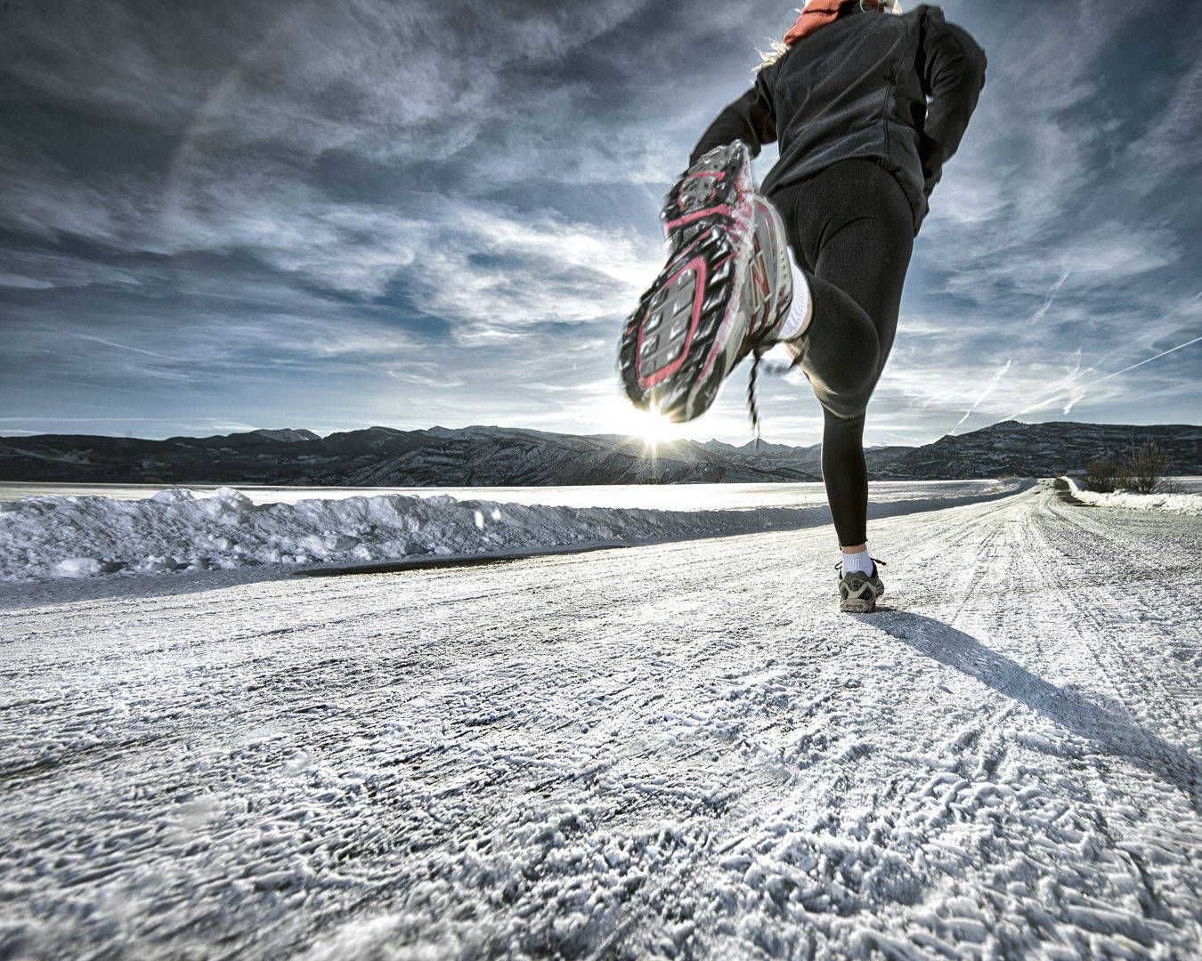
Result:
M1197 957L1202 518L0 592L0 957Z

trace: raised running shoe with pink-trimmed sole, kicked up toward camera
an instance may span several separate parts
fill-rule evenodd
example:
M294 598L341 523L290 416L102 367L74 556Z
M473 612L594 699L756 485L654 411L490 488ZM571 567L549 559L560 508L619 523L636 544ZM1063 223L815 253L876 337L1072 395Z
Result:
M792 300L789 246L740 141L685 171L660 216L668 262L626 321L618 366L636 407L691 420L739 360L770 346Z

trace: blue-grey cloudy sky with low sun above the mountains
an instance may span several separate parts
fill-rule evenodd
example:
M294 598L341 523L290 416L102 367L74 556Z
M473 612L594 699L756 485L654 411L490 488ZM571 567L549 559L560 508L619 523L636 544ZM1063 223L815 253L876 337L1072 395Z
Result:
M0 434L643 430L661 197L795 5L4 0ZM867 441L1202 423L1202 4L944 11L986 88ZM678 432L749 440L745 377Z

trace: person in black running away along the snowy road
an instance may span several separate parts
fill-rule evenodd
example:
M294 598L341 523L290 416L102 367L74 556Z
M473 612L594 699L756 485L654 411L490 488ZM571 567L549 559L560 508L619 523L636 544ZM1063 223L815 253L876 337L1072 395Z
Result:
M739 360L784 344L822 406L841 610L875 610L883 591L868 553L864 412L914 238L984 70L939 7L809 0L668 191L668 262L623 329L627 395L672 420L702 414ZM751 157L774 141L780 159L756 192Z

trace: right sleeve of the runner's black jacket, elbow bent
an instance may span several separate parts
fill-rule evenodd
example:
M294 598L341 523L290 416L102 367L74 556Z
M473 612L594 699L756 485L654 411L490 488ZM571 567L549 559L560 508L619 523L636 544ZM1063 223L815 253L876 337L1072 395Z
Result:
M918 153L929 197L984 86L984 50L969 32L944 19L939 7L924 7L920 18L918 76L928 97Z

